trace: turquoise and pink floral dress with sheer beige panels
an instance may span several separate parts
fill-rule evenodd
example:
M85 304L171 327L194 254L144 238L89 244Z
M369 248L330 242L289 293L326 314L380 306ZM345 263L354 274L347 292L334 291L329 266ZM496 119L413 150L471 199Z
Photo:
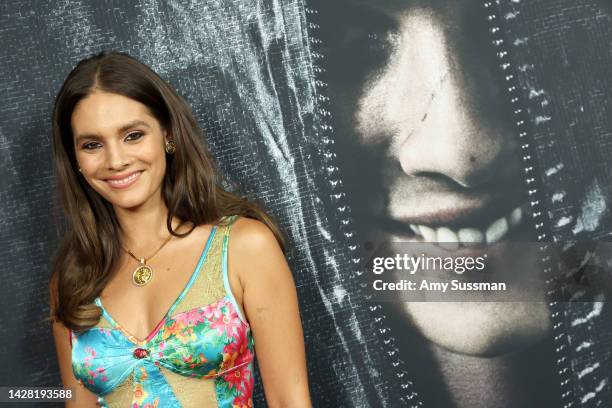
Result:
M146 339L126 332L99 298L101 322L71 332L74 375L100 406L253 406L253 338L227 278L234 219L213 227L190 280ZM204 299L212 301L197 305Z

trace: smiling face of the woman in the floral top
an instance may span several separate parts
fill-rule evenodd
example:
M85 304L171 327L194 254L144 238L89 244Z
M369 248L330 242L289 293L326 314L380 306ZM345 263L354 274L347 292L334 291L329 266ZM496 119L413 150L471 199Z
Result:
M116 210L161 202L166 132L145 105L95 91L76 105L71 124L81 174Z

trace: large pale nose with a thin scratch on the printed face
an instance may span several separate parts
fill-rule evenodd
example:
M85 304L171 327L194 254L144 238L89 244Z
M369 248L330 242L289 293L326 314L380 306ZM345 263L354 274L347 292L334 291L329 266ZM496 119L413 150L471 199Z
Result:
M494 55L469 26L432 18L405 21L386 73L394 79L385 109L396 129L391 154L408 175L437 173L464 187L505 179L517 170L516 143Z

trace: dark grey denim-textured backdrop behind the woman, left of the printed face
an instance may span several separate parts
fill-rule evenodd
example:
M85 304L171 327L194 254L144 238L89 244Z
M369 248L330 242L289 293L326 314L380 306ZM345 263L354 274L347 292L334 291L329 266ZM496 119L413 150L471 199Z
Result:
M44 321L59 240L50 115L76 62L114 49L178 89L221 170L279 220L290 242L315 403L386 399L376 369L368 368L382 348L363 331L362 306L351 295L351 239L334 201L341 193L327 162L331 140L320 131L300 1L10 1L1 24L0 384L59 383Z

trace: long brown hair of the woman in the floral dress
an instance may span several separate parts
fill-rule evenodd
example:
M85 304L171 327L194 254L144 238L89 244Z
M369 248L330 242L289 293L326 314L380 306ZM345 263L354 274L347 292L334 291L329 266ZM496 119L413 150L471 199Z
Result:
M56 253L49 283L51 319L71 330L93 327L100 309L93 304L117 267L121 228L112 205L77 171L72 112L94 90L115 93L149 108L176 143L166 155L162 197L168 208L166 226L175 236L197 225L218 223L226 215L260 220L283 245L273 220L256 204L224 190L224 181L204 145L204 135L188 104L149 67L121 52L102 52L80 61L70 72L53 109L53 155L60 205L67 231ZM172 229L172 219L192 223L184 234Z

